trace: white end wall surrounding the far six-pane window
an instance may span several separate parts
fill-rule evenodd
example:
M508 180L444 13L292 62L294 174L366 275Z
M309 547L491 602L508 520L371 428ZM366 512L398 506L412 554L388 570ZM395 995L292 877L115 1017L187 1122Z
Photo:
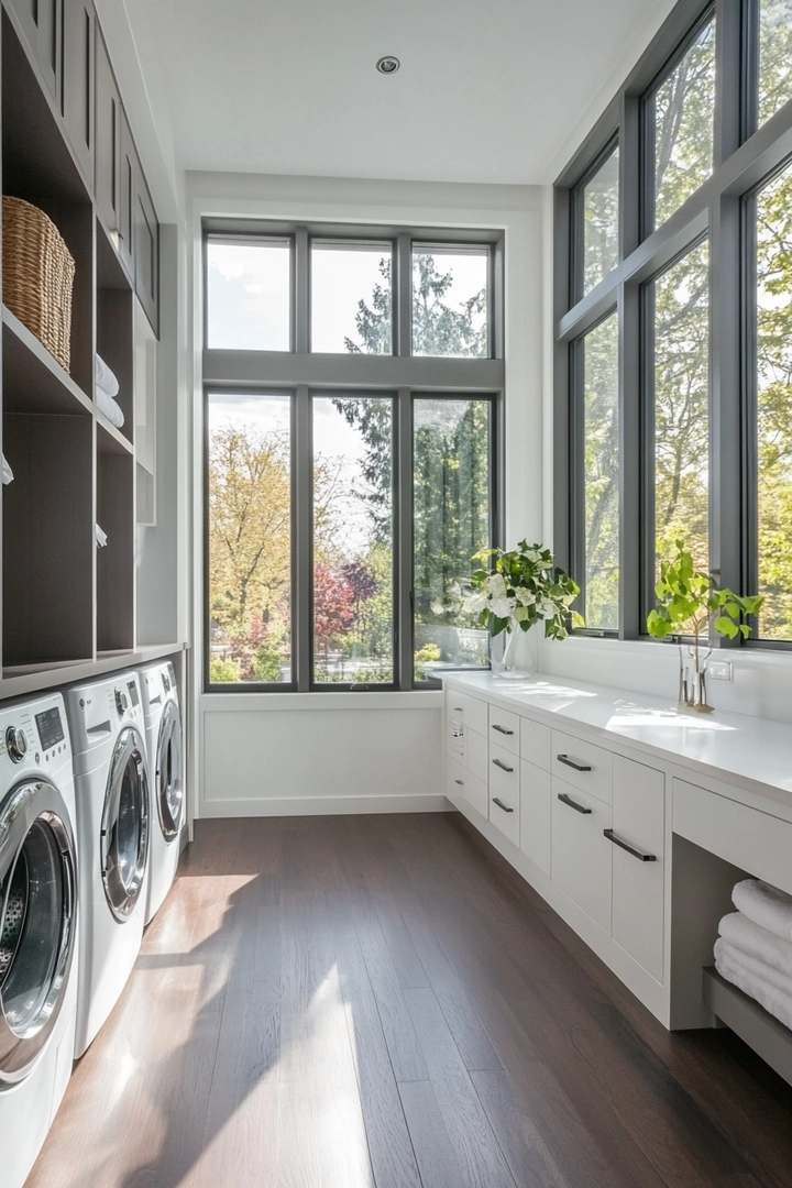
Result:
M506 532L543 525L543 191L344 178L189 173L185 266L192 328L192 639L197 816L414 811L442 795L438 693L203 694L201 217L495 227L505 236ZM194 769L195 770L195 769Z

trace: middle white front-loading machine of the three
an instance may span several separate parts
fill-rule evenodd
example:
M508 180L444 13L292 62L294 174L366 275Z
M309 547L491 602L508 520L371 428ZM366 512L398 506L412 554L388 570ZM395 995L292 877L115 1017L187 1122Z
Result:
M148 766L137 672L66 691L82 889L75 1056L115 1006L140 952L148 868Z

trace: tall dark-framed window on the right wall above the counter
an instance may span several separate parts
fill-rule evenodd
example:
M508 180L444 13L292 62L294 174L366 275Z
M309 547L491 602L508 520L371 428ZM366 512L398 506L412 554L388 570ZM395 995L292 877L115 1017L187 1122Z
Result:
M679 0L557 182L555 549L583 631L644 636L683 541L765 596L714 644L792 646L790 144L792 0Z

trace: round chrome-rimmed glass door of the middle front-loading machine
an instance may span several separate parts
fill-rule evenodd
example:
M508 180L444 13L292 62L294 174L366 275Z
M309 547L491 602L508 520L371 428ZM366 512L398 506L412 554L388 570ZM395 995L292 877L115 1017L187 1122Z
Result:
M107 902L123 923L140 898L148 860L148 776L142 740L132 726L121 731L110 765L101 860Z

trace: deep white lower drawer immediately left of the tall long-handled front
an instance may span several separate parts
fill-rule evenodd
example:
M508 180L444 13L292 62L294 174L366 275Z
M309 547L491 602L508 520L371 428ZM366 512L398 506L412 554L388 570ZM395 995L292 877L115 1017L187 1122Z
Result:
M603 830L609 828L609 804L553 776L553 883L608 934L613 846Z

